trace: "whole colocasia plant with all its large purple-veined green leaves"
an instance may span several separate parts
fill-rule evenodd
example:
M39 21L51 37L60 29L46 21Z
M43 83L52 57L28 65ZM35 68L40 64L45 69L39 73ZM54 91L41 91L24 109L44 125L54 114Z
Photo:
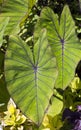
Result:
M36 9L36 6L37 0L2 2L0 47L5 53L4 73L1 72L5 75L5 93L35 124L34 129L40 129L45 114L54 117L67 107L64 95L65 92L66 95L69 93L67 86L74 78L81 59L81 42L75 32L75 22L68 5L64 6L60 16L49 7L42 8L40 16L36 13L32 15L32 9ZM31 26L31 22L28 22L30 16L33 16L35 26L33 35L29 36L32 40L27 39L25 42L21 32L25 23ZM30 45L27 41L30 41ZM3 88L0 90L2 92ZM1 103L5 104L5 99ZM73 119L73 130L76 127L79 130L80 111L69 110L70 107L74 109L74 106L68 105L67 111L70 120L78 114L79 118ZM68 118L65 113L64 119Z

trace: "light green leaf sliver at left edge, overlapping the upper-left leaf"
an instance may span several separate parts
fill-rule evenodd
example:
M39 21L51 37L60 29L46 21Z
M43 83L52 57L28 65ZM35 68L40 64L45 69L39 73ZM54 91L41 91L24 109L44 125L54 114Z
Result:
M6 26L8 25L9 22L9 17L0 17L0 47L2 46L3 43L3 35L6 30Z

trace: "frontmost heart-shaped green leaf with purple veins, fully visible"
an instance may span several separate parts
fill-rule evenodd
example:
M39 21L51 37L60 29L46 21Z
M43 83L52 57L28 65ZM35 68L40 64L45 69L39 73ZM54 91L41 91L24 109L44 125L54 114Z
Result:
M42 30L33 51L18 36L11 36L5 59L5 78L22 112L40 125L53 94L56 60Z

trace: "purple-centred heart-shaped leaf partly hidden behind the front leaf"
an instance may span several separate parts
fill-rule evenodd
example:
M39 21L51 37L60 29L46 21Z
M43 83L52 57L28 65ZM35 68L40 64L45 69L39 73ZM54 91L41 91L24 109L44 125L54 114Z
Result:
M56 56L59 72L55 87L65 88L74 77L81 59L81 43L76 36L69 7L64 7L60 21L50 8L44 8L36 25L35 40L43 27L47 29L48 40Z

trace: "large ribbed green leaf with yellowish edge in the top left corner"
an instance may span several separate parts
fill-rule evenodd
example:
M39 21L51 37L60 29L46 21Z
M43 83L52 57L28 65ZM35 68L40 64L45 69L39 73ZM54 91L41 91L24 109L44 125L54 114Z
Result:
M0 17L10 17L10 22L7 26L6 33L18 33L19 25L24 21L36 0L6 0L0 9Z

